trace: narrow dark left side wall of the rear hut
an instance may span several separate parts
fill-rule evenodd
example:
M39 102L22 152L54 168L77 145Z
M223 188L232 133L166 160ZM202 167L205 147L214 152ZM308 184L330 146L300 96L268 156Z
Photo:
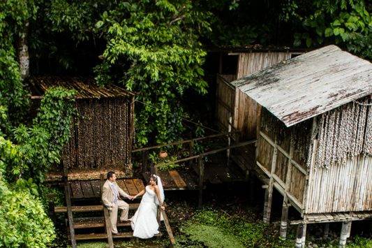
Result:
M216 116L223 130L228 130L228 122L233 115L235 89L229 82L235 79L235 75L217 75Z

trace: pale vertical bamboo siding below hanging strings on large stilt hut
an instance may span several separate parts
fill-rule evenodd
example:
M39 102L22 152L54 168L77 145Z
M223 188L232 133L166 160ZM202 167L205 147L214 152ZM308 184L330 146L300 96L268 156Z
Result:
M306 213L372 210L372 156L311 170Z

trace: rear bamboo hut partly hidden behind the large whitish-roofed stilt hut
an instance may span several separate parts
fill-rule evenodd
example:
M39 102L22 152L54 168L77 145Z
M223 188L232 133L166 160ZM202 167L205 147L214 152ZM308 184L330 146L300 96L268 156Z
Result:
M252 116L260 109L230 82L303 54L304 50L263 48L260 45L251 45L242 48L223 48L218 52L220 57L216 78L218 125L222 131L239 131L239 136L235 137L235 141L255 139L257 138L257 118L252 118ZM231 154L232 160L247 173L253 166L250 162L254 161L254 156L250 155L254 154L254 149L254 145L248 145L234 149Z

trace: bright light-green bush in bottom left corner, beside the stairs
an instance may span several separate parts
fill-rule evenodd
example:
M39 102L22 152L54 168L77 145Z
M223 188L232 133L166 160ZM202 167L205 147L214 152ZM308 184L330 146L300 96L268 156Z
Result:
M54 239L54 226L43 210L40 200L20 181L13 189L5 182L7 163L19 163L23 156L17 146L0 137L0 247L48 247Z

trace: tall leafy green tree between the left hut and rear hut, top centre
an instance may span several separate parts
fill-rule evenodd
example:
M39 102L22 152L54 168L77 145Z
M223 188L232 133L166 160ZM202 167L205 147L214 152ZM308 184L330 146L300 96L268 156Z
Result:
M105 11L96 27L107 40L103 64L96 67L100 85L122 82L140 92L144 105L136 114L137 143L179 138L184 131L181 96L186 89L207 92L202 79L199 34L209 30L193 1L127 1ZM117 72L116 74L113 72ZM114 75L114 77L112 76Z

